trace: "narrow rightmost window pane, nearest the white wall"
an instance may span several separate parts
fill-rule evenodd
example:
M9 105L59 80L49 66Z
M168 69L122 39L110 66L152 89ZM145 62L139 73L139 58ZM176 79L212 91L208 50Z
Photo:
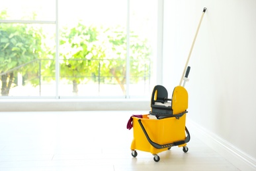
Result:
M157 0L130 0L130 95L151 95L157 42Z

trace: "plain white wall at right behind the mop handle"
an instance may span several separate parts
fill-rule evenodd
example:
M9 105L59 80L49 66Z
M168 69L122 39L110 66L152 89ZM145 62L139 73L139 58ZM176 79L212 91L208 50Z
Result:
M179 85L192 51L191 120L256 159L256 1L164 1L163 85Z

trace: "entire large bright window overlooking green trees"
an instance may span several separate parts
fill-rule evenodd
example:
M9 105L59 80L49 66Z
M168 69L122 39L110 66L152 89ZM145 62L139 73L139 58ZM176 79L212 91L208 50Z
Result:
M13 5L15 4L15 5ZM157 0L3 0L1 97L145 97Z

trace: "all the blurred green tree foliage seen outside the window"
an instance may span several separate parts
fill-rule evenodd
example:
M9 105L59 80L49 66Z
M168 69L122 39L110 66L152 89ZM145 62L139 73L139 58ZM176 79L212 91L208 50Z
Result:
M6 11L0 18L7 16ZM55 80L55 45L48 45L42 26L35 24L0 24L1 93L17 85L17 72L32 85ZM54 37L52 37L54 39ZM130 55L130 78L136 84L150 70L150 47L146 39L130 33L127 49L126 29L76 26L60 29L60 79L73 84L77 95L78 84L101 82L119 84L126 89L126 56ZM47 59L47 60L46 60ZM39 78L39 79L38 79ZM23 82L24 83L24 82Z

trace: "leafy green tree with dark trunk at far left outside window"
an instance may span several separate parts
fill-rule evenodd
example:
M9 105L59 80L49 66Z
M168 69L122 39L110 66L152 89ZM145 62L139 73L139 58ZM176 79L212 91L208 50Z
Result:
M1 12L0 16L6 12ZM2 16L2 17L3 17ZM1 17L1 18L2 18ZM44 55L42 30L28 24L0 24L0 74L1 94L8 95L17 79L17 70L27 79L38 76L35 62ZM32 82L33 84L33 82ZM34 82L34 84L36 84ZM38 83L37 83L38 84Z

